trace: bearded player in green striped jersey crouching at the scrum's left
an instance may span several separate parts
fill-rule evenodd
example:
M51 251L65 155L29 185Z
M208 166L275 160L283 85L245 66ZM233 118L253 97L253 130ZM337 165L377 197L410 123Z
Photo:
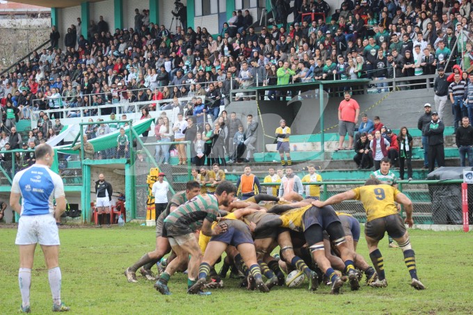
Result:
M200 229L206 236L216 236L227 232L225 223L216 225L214 229L211 225L218 216L218 206L228 206L233 201L235 193L236 187L230 181L222 181L216 187L214 195L198 195L179 206L164 219L163 236L168 238L177 257L166 266L166 270L154 284L157 291L170 295L168 281L177 267L187 261L189 256L188 289L195 284L202 252L194 232ZM201 291L199 293L203 294Z

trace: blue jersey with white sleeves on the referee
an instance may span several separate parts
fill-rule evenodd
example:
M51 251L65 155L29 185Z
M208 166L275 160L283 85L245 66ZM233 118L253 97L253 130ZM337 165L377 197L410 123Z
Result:
M53 199L64 197L64 184L46 165L35 164L17 172L11 191L22 195L22 216L38 216L54 212Z

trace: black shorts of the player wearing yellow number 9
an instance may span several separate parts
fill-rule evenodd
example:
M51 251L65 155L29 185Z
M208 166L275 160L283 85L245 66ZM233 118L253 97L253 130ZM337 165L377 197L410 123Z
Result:
M385 232L393 239L398 239L406 234L406 226L399 214L377 218L364 225L364 234L376 241L383 239Z

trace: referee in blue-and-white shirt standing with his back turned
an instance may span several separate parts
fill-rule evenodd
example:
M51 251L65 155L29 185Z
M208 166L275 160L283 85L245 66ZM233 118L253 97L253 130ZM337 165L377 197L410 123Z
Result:
M50 170L54 150L50 145L38 145L35 149L36 163L17 172L13 178L10 206L20 215L15 244L19 245L19 291L22 293L23 313L31 312L31 268L35 248L41 245L48 268L49 286L53 296L53 312L67 312L61 302L61 269L59 268L59 232L56 219L65 211L63 180ZM22 198L22 205L19 198ZM53 207L56 199L56 211Z

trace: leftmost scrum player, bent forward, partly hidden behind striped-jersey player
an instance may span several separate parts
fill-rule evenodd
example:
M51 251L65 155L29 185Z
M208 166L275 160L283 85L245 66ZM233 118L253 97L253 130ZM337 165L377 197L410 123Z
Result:
M136 280L136 270L140 269L141 275L146 277L147 280L155 280L154 275L151 271L152 266L156 264L164 255L170 252L170 245L168 239L163 237L163 221L169 215L169 213L175 211L181 204L191 200L196 195L200 195L200 184L197 181L188 181L186 183L186 190L175 193L171 198L171 201L156 221L156 248L152 252L148 252L140 260L136 261L135 264L125 269L125 276L128 282L138 282Z

